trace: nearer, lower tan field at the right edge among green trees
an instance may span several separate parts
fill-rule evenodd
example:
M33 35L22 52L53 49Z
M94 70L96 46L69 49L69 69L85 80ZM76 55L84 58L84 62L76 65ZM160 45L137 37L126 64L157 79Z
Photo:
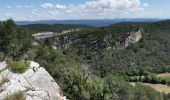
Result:
M170 87L167 86L167 85L162 85L162 84L151 84L151 83L141 83L141 82L130 82L130 84L132 86L135 86L136 84L142 84L142 85L145 85L145 86L149 86L151 88L153 88L154 90L158 91L158 92L161 92L161 93L165 93L165 94L168 94L170 93Z

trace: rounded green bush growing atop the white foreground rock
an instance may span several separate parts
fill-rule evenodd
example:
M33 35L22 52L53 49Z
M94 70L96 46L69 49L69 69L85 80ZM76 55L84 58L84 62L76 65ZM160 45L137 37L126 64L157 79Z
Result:
M13 73L24 73L29 67L29 63L19 60L19 61L11 61L9 64L9 68Z

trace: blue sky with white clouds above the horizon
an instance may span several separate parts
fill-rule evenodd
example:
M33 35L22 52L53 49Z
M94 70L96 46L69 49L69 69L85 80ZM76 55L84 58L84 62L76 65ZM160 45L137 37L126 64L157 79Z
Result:
M170 0L0 0L0 20L170 18Z

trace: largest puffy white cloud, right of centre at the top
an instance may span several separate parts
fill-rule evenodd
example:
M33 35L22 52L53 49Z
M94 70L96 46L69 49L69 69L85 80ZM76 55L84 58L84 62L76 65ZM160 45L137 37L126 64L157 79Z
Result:
M114 18L135 15L143 10L140 0L92 0L79 5L69 5L68 14L79 18Z

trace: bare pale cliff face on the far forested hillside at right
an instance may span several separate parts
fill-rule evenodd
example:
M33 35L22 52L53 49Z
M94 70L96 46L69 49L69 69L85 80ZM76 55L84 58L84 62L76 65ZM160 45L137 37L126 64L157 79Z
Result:
M140 41L142 38L142 33L143 33L143 29L126 33L122 41L118 41L115 43L114 49L115 50L125 49L130 44Z

